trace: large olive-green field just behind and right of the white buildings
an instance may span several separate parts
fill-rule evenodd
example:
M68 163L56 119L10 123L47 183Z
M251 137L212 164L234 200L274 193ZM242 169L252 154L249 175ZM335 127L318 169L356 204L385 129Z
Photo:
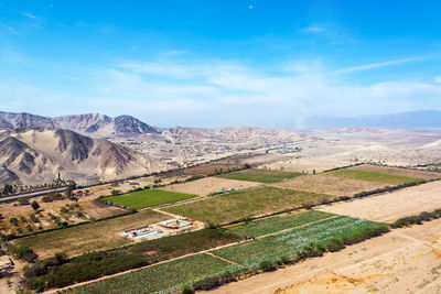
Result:
M331 198L333 196L324 194L260 186L168 207L164 210L211 224L225 224L244 217L319 204Z

